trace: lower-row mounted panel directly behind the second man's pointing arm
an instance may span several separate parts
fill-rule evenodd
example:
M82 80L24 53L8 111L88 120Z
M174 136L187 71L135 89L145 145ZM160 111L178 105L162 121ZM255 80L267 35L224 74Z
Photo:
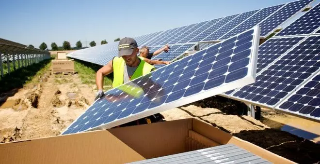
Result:
M163 61L172 61L182 55L185 51L190 49L194 44L183 44L183 45L174 45L172 46L173 48L170 50L168 53L161 53L157 56L154 56L152 59L157 60L157 59L162 59Z

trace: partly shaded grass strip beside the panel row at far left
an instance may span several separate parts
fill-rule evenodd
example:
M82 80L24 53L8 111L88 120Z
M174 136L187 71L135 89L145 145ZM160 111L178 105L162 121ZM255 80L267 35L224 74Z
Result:
M15 88L22 88L23 85L28 83L38 82L39 79L34 77L43 76L43 74L50 68L51 59L46 59L39 63L34 63L30 66L16 69L16 71L11 72L10 74L5 74L0 80L0 93L7 92Z

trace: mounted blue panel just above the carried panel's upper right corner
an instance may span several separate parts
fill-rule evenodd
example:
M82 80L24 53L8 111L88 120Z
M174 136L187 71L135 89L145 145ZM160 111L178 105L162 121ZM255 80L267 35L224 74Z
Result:
M311 1L313 0L298 0L290 2L286 6L281 8L279 11L277 11L275 14L273 14L260 24L261 37L267 37L268 35L270 35L275 30L275 28L284 23L292 15L302 10Z

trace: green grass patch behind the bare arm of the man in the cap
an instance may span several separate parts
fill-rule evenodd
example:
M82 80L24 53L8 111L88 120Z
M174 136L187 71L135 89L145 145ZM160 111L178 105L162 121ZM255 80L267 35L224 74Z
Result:
M75 71L78 72L82 83L94 85L96 84L96 71L99 70L102 66L76 59L74 62L74 66ZM110 88L112 88L112 77L112 74L104 77L104 90L109 90Z

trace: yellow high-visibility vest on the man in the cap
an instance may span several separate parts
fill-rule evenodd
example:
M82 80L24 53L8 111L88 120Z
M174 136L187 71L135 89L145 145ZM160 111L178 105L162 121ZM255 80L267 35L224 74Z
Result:
M146 63L140 56L140 64L138 68L134 71L130 80L139 78L145 74L150 73L155 67ZM113 67L113 82L112 87L115 88L123 84L125 60L122 57L114 57L112 61Z

